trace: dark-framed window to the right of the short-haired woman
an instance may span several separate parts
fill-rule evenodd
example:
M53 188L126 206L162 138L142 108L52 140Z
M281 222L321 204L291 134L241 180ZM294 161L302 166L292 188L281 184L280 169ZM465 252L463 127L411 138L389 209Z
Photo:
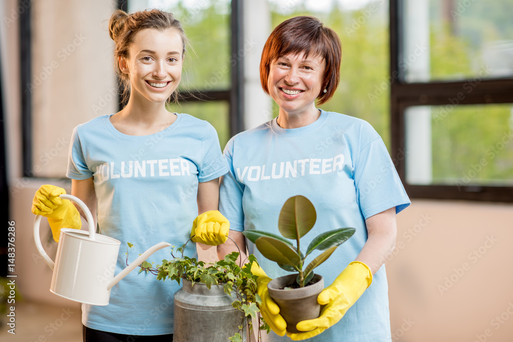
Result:
M512 10L390 1L392 151L410 197L513 202Z

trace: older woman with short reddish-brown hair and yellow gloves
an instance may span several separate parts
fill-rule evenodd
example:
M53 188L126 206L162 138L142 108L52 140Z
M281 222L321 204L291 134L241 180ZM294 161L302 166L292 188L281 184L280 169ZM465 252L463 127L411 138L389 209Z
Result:
M229 172L221 181L220 211L232 230L278 233L280 209L294 195L306 196L317 210L316 231L302 244L322 231L356 228L316 269L331 284L318 297L321 316L300 322L297 328L305 332L283 339L278 335L285 335L285 322L266 293L268 281L283 270L249 244L262 267L255 271L273 341L391 338L383 262L395 245L396 213L409 199L383 140L368 123L315 107L315 100L323 104L333 96L340 61L339 37L317 18L294 17L276 27L264 46L260 75L279 115L235 135L224 151Z

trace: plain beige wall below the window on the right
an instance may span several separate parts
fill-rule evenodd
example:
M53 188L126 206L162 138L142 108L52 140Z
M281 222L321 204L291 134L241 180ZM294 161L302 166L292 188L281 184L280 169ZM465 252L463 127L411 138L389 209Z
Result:
M413 200L397 218L392 340L511 342L513 205Z

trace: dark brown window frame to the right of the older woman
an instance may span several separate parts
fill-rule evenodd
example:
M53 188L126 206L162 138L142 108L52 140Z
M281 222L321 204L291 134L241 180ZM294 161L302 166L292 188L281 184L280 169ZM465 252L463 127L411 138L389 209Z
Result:
M399 67L403 59L403 8L404 0L390 0L390 128L391 151L405 151L404 112L411 106L449 105L449 99L457 97L465 83L474 79L449 82L406 83L404 71ZM513 103L513 77L486 78L479 86L459 100L462 105L487 105ZM392 153L394 154L394 153ZM457 185L412 185L406 181L404 153L397 160L396 168L404 188L411 198L462 199L487 202L513 203L513 187L492 187L468 184Z

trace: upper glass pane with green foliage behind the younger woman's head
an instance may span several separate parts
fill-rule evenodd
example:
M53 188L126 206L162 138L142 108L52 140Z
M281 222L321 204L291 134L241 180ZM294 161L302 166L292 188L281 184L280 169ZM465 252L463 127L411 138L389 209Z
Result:
M230 0L130 0L130 12L159 8L179 19L189 39L180 90L230 88Z

